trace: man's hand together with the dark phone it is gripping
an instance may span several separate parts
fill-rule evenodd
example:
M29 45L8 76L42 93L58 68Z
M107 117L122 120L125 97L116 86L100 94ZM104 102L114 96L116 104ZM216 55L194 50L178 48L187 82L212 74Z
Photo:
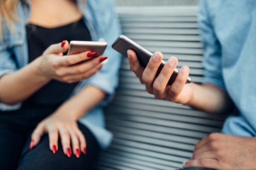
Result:
M162 61L162 53L155 52L151 55L145 48L123 36L113 44L113 48L128 57L131 70L145 85L149 94L157 99L181 104L188 104L192 100L191 85L194 84L188 83L191 82L188 77L189 67L183 66L180 71L175 71L178 63L176 57L170 57L165 63Z

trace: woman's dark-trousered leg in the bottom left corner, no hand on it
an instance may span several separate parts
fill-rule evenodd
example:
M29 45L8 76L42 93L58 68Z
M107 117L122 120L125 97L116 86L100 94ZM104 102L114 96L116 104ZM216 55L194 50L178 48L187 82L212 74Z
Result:
M23 142L20 130L0 123L0 170L16 170Z

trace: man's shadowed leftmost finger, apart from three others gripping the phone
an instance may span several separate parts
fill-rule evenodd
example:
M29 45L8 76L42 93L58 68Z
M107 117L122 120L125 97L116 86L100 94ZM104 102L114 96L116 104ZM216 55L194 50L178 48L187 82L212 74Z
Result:
M131 71L133 71L141 80L144 68L140 65L136 53L133 50L128 50L127 54Z

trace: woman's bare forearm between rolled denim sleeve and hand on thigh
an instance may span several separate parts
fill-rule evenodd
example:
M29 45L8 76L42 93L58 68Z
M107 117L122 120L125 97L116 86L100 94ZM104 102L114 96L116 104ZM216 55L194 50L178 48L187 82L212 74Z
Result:
M97 106L105 98L105 92L94 86L86 86L78 94L64 102L56 113L70 114L74 119L78 120L84 113L90 111Z

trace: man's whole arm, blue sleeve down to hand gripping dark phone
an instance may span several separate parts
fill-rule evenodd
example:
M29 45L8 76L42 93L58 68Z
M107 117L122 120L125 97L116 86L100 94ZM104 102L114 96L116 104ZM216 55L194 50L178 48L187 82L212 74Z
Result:
M141 82L145 84L148 93L153 94L157 99L189 105L192 108L209 113L227 113L232 109L232 101L225 90L221 69L221 46L215 35L205 2L201 3L198 20L204 45L203 65L205 71L203 85L195 83L185 85L189 75L187 66L181 68L171 86L167 85L178 62L175 57L170 58L172 64L167 62L160 75L155 79L157 68L163 59L163 54L160 52L154 53L158 54L159 60L156 61L151 57L150 62L144 69L140 66L134 51L129 51L130 67ZM183 68L186 69L185 72L183 72Z

